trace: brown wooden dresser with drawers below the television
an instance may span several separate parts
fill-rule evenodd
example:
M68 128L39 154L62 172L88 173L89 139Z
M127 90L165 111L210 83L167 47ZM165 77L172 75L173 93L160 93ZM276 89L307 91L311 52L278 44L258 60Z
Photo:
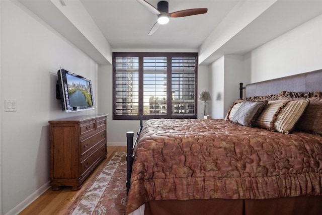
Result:
M82 187L84 180L106 158L107 115L77 116L49 121L50 185Z

